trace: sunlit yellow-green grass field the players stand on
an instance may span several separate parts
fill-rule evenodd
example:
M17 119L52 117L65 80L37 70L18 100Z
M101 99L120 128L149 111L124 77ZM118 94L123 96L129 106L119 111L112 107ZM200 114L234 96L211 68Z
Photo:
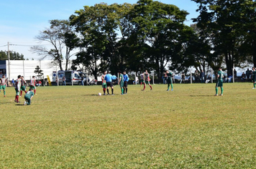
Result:
M0 93L0 168L256 168L252 83L37 87ZM219 90L220 92L220 90Z

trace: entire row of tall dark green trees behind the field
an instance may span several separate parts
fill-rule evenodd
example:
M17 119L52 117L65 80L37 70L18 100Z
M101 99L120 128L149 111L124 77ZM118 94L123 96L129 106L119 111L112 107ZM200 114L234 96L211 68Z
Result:
M225 65L231 72L233 66L256 64L255 1L192 1L199 15L191 26L184 24L187 11L160 1L83 6L67 20L50 21L35 37L52 49L32 50L51 56L60 69L68 69L76 55L73 69L83 64L94 77L106 69L155 70L160 78L165 69L207 72Z

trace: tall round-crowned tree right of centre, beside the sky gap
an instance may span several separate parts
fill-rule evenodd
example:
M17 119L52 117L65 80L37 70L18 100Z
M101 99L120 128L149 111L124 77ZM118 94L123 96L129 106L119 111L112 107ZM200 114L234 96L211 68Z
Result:
M177 6L159 1L140 0L134 6L132 23L142 46L149 45L147 57L153 69L161 77L166 65L174 57L182 57L181 31L188 14ZM176 56L177 55L177 56Z

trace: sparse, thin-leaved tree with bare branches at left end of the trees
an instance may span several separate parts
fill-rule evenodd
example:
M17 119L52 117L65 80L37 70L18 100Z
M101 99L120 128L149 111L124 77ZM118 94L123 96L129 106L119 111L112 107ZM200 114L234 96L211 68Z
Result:
M52 45L52 49L34 46L31 48L33 52L42 56L42 59L49 56L52 57L60 67L60 70L63 70L62 62L65 59L65 70L68 69L69 59L76 54L73 50L79 40L68 20L51 20L50 28L40 32L35 39L39 42L49 42Z

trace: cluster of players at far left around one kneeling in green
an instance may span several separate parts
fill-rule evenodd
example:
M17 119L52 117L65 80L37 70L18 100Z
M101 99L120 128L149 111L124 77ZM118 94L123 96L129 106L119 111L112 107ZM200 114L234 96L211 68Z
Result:
M36 82L37 82L37 80L35 79L35 76L33 76L31 81L30 81L30 84L29 84L29 91L26 91L26 86L27 86L26 81L24 80L23 76L19 75L18 79L14 83L14 89L15 89L15 92L16 92L14 102L19 103L19 97L22 97L22 91L24 91L25 92L24 105L31 105L32 97L34 95L36 95L35 94L35 92L36 92L36 87L35 87Z

